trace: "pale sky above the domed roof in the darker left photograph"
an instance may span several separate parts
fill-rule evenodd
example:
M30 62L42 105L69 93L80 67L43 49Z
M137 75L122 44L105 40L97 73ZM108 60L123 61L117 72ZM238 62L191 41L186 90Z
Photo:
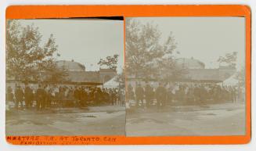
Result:
M124 67L123 20L20 20L22 26L34 23L44 44L50 34L56 38L58 60L72 60L85 70L99 70L99 59L119 55L117 72Z

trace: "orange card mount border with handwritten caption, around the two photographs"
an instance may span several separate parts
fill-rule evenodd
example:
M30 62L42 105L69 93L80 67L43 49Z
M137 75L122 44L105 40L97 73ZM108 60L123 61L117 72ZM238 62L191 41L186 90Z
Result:
M226 136L6 136L14 145L165 145L245 144L251 140L251 9L247 5L11 5L9 19L52 19L72 17L245 17L246 30L246 134ZM125 28L124 28L125 29ZM125 32L124 32L125 34Z

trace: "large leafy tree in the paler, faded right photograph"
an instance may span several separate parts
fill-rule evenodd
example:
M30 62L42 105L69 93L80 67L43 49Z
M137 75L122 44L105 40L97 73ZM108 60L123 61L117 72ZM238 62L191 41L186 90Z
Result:
M175 69L177 43L171 32L164 44L160 44L161 33L157 25L142 24L134 19L126 20L125 24L125 70L128 75L163 78Z

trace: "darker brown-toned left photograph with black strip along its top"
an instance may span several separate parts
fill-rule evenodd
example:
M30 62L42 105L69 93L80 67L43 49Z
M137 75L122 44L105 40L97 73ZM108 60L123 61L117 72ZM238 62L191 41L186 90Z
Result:
M5 133L125 135L123 17L6 20Z

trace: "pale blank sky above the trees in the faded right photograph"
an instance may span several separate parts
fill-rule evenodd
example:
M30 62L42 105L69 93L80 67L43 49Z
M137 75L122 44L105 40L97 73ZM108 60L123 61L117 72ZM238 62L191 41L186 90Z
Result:
M244 17L136 17L141 23L156 24L160 41L172 31L178 43L177 57L199 59L206 68L218 68L217 59L227 52L238 52L237 69L245 61Z

